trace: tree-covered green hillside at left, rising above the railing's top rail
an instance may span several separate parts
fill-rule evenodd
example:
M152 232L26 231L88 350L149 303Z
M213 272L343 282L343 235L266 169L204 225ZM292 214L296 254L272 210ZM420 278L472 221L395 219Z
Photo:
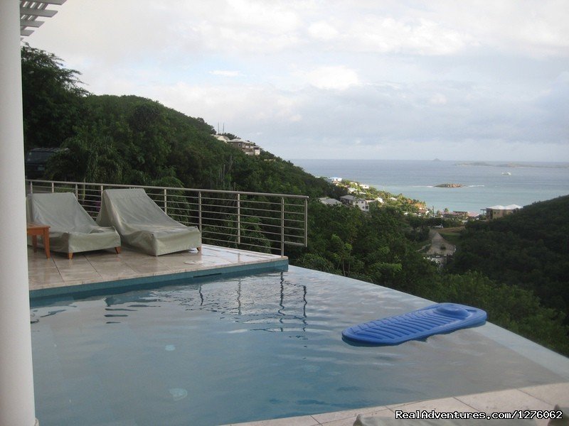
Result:
M262 152L213 138L203 119L135 96L95 96L55 55L22 48L24 141L62 147L47 178L86 182L339 195L333 185Z

